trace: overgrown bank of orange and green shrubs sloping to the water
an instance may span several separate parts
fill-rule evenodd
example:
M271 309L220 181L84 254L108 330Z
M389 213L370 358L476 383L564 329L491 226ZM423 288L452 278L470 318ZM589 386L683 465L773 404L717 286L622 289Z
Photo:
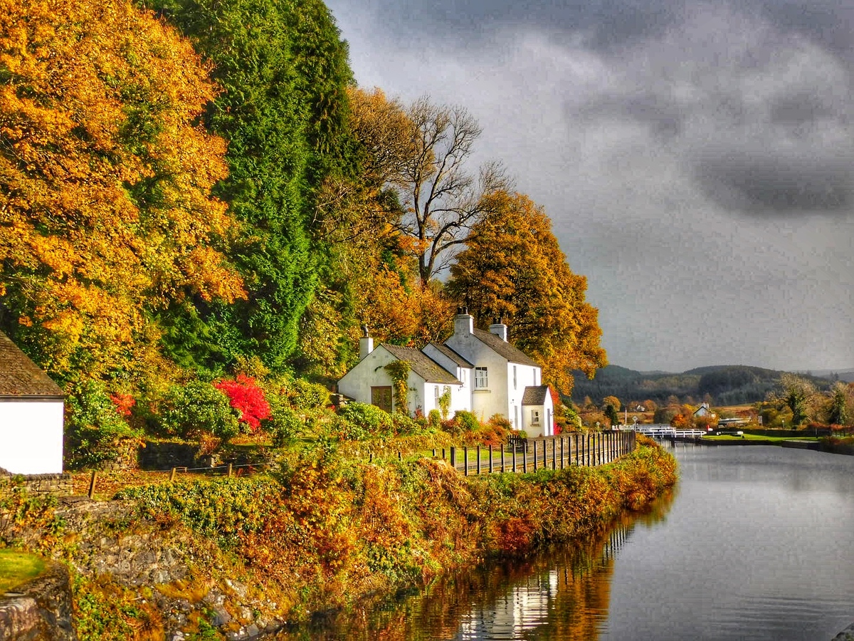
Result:
M321 448L270 476L105 503L19 497L17 525L0 535L69 564L80 638L249 638L585 536L675 482L655 444L600 468L469 478L433 459L355 462Z

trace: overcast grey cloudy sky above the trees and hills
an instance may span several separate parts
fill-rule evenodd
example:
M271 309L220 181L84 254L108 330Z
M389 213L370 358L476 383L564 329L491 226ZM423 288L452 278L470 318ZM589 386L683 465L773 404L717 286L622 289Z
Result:
M854 368L851 0L327 0L356 79L460 104L609 361Z

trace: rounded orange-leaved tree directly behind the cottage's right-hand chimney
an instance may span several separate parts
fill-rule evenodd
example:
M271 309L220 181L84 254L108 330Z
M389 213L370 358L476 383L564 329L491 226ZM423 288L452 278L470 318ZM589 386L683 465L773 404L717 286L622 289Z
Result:
M483 200L490 214L452 265L448 295L478 324L505 321L511 342L543 366L543 382L569 396L572 370L592 378L607 364L598 311L584 300L587 279L572 273L551 221L529 197L496 191Z

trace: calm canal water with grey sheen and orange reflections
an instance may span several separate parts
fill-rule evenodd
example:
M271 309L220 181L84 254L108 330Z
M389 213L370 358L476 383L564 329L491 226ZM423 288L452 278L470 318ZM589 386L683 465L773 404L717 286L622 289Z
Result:
M854 456L674 451L676 491L600 538L278 638L829 641L854 622Z

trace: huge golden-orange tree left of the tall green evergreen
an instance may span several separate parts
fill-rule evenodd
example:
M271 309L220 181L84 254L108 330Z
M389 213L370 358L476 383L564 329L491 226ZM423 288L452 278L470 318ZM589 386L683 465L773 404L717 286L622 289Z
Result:
M60 379L166 368L164 309L244 297L208 67L123 0L0 0L0 77L0 325Z

